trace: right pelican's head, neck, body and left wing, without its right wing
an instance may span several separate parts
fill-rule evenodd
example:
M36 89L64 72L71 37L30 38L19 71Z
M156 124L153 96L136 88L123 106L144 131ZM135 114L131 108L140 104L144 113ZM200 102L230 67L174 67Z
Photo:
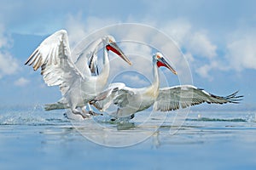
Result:
M118 110L112 115L116 117L131 116L138 111L148 109L154 104L159 95L159 67L165 66L174 74L177 72L168 64L160 53L156 53L152 58L154 82L147 88L129 88L122 83L112 84L105 92L98 95L91 101L100 111L104 111L113 102L118 105Z

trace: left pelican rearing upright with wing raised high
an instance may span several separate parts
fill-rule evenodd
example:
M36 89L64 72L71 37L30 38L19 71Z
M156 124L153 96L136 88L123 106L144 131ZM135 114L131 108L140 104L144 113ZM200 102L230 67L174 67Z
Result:
M59 86L61 88L61 103L67 103L75 115L83 118L87 116L78 110L83 107L102 89L108 81L109 59L108 51L118 54L129 65L131 61L125 56L115 43L112 36L102 37L96 41L96 48L103 43L103 66L102 72L93 77L87 62L84 62L84 71L81 72L78 66L73 63L71 50L69 48L67 31L56 31L47 37L32 55L26 60L25 65L33 65L34 71L41 67L41 75L48 86ZM86 59L84 61L87 61ZM91 112L90 112L91 113Z

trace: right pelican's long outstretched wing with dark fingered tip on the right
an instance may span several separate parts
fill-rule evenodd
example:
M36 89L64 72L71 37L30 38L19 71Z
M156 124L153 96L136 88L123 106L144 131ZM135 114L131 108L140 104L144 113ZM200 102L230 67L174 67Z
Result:
M172 88L160 88L159 96L154 102L155 111L174 111L190 105L208 104L225 104L239 103L242 96L230 94L225 97L209 94L201 88L194 86L182 85Z

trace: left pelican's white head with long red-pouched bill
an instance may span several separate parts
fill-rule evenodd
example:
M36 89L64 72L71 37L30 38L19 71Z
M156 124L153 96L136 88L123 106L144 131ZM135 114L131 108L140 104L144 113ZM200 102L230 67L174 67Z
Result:
M131 61L125 56L123 51L118 47L116 41L113 36L106 36L102 38L102 41L105 44L107 50L112 51L115 54L118 54L121 59L124 59L129 65L131 65Z

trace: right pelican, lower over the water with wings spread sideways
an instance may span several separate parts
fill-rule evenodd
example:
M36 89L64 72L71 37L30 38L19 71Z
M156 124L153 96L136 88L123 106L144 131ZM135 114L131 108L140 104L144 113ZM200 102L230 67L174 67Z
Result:
M236 93L226 97L209 94L201 88L190 85L181 85L168 88L159 88L158 67L166 66L174 74L176 71L166 62L163 54L153 55L154 82L147 88L128 88L124 83L113 83L108 88L90 101L99 111L106 111L112 103L118 106L118 110L111 113L115 118L130 116L131 118L138 111L148 109L153 105L154 111L174 111L180 107L186 108L190 105L238 103Z

